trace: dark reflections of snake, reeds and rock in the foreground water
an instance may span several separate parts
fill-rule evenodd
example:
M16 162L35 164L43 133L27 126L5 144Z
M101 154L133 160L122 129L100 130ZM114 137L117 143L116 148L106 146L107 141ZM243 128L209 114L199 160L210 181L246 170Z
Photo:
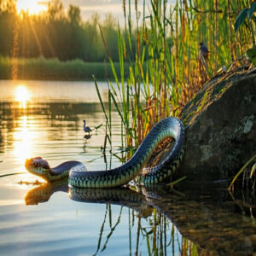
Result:
M48 201L54 192L63 191L62 185L46 183L32 189L26 195L26 203ZM122 207L129 207L130 253L135 252L136 255L141 253L143 242L147 244L148 255L168 255L170 252L173 255L232 255L236 252L253 253L256 245L253 218L256 207L253 201L246 201L246 195L240 196L243 198L241 201L222 189L207 192L183 190L183 193L177 194L162 188L135 191L128 188L77 189L66 186L66 191L75 201L106 203L96 253L104 250L110 236L114 236ZM252 200L251 196L248 200ZM112 219L112 205L121 206L115 222ZM142 224L145 218L146 222ZM110 230L103 242L107 219ZM132 229L137 229L136 237Z

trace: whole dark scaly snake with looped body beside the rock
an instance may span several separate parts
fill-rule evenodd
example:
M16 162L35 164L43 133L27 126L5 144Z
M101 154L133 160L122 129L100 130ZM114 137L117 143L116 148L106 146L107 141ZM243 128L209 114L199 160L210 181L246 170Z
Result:
M154 150L169 137L175 143L165 159L157 166L144 168ZM123 186L133 179L151 186L172 179L183 160L184 145L183 123L175 117L166 117L153 126L131 159L122 166L106 171L87 171L80 161L69 160L51 168L48 161L41 157L27 159L25 166L28 172L43 177L47 182L68 177L69 185L78 188L108 189Z

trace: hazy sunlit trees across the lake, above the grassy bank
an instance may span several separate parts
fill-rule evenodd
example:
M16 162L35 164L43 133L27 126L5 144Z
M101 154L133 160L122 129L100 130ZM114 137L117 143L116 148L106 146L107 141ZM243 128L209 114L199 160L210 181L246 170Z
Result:
M109 54L113 61L119 60L118 24L113 15L106 15L102 23L97 14L83 21L78 6L71 4L65 12L60 0L49 2L47 11L40 15L27 11L18 15L15 1L0 2L0 55L104 61L108 55L100 24Z

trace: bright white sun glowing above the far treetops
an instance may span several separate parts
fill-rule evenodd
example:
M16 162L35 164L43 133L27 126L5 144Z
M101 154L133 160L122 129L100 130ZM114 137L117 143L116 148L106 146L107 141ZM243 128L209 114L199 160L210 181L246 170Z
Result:
M17 0L16 8L18 14L21 10L27 11L29 15L38 15L47 9L48 2L38 2L38 0Z

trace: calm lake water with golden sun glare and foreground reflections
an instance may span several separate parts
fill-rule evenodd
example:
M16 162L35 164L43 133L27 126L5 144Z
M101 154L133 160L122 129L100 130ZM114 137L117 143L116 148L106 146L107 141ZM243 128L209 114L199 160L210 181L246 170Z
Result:
M99 83L102 99L108 84ZM217 189L73 189L26 172L26 158L88 170L121 165L121 125L112 148L93 82L0 81L1 255L231 255L256 251L251 196ZM84 138L83 119L91 128ZM37 182L38 181L38 182Z

